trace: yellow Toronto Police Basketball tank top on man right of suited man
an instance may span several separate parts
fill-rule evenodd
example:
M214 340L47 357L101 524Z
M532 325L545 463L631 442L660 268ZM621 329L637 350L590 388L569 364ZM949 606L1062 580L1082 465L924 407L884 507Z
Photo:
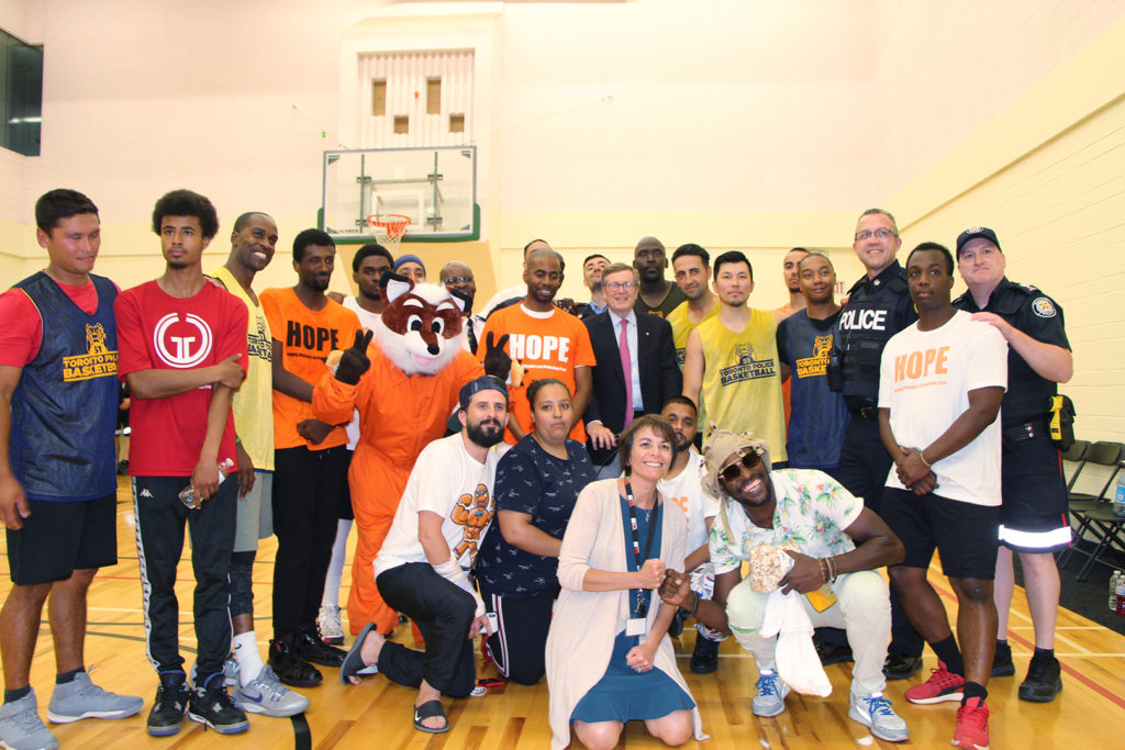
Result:
M704 361L701 392L709 419L766 441L772 460L788 460L773 313L752 308L741 333L729 331L718 317L704 320L698 331Z

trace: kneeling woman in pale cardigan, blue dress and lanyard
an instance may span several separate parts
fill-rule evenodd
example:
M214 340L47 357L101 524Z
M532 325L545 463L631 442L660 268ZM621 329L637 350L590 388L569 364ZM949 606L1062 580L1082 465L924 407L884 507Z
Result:
M631 720L669 746L705 738L667 634L675 607L654 590L665 568L678 570L684 561L684 514L674 504L665 512L656 491L675 444L667 422L639 417L619 441L626 476L592 482L578 495L547 636L556 750L570 743L572 724L591 750L616 746Z

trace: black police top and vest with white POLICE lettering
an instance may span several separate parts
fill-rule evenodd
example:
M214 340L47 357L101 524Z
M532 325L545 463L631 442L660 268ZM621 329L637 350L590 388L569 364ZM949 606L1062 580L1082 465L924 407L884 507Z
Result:
M879 400L879 363L891 336L918 319L902 265L894 261L874 279L864 275L848 290L840 313L844 396L853 412Z

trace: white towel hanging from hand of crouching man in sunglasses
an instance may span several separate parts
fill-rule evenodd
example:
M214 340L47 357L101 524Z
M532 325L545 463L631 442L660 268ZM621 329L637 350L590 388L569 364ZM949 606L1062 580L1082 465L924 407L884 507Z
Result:
M798 693L826 697L832 693L825 668L812 645L812 622L804 611L803 597L794 591L782 594L781 587L768 594L760 635L777 635L774 661L782 681Z

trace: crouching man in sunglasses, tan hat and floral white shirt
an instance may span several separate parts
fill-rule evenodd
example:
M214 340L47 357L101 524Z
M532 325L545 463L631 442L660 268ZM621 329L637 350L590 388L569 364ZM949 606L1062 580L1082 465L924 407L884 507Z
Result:
M742 579L741 566L759 544L785 545L792 567L778 587L801 599L813 626L847 631L855 652L848 716L886 742L910 731L883 697L883 659L891 633L886 584L876 571L902 559L902 543L879 516L828 475L813 469L770 469L768 446L726 430L706 441L703 489L719 498L711 527L714 595L688 590L688 576L668 570L660 598L700 622L734 634L758 666L756 716L785 711L789 686L777 675L777 638L759 634L770 594ZM793 551L795 549L795 551ZM816 604L814 604L816 603Z

